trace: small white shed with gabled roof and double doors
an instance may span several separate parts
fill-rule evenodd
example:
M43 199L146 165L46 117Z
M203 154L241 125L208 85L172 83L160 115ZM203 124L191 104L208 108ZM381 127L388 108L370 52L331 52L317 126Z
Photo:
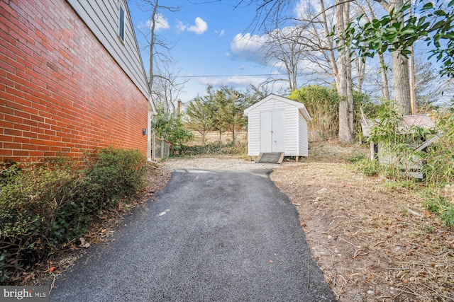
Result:
M311 115L303 103L268 95L244 110L248 116L248 155L284 152L308 156L307 122Z

